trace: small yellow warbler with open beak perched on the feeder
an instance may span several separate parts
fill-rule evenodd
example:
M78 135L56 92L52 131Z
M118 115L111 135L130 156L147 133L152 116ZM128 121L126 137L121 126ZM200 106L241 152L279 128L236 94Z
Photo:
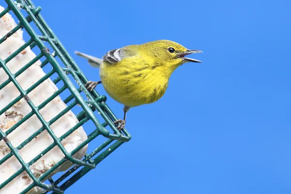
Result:
M92 91L102 83L105 91L117 102L124 105L124 118L114 122L117 129L125 127L126 115L130 108L149 104L160 99L165 93L169 78L174 70L187 62L201 63L185 57L200 50L186 49L169 40L157 40L141 45L129 45L108 51L102 59L75 51L99 67L101 81L88 81L86 87Z

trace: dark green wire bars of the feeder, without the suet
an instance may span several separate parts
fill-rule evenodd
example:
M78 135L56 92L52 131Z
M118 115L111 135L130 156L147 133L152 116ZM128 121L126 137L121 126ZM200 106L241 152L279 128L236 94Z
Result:
M65 155L65 158L62 159L60 162L57 162L57 164L54 165L51 169L49 169L49 171L47 171L46 173L44 173L43 175L41 175L39 178L35 178L35 179L32 178L33 183L29 187L27 187L24 191L21 192L21 194L24 194L24 193L28 192L30 189L32 189L34 186L40 186L43 189L46 189L47 191L53 191L54 193L63 193L64 190L62 190L62 189L66 189L68 186L70 186L71 184L73 184L77 179L81 178L84 174L86 174L88 171L90 171L93 166L95 167L97 163L99 163L106 156L108 156L110 153L112 153L112 151L114 149L116 149L118 146L120 146L121 144L123 144L123 141L129 141L130 138L131 138L131 136L127 132L126 129L123 130L123 133L125 134L125 135L123 135L121 132L119 132L116 129L115 125L113 125L113 120L116 120L116 116L112 113L112 111L106 105L106 103L105 103L106 97L105 96L100 96L95 90L92 93L90 93L89 91L87 91L87 89L84 86L84 83L86 83L88 81L87 78L83 75L83 73L81 72L81 70L78 67L78 65L74 62L74 60L67 53L67 51L65 50L64 46L62 45L62 43L58 40L58 38L55 36L55 34L49 28L49 26L47 25L47 23L45 22L45 20L43 19L43 17L40 14L38 14L38 12L40 11L40 7L37 7L36 8L33 5L33 3L32 3L31 0L17 0L19 3L21 3L21 7L23 7L23 9L26 10L27 13L28 13L28 15L29 15L29 16L27 16L25 18L21 14L21 12L17 9L16 4L13 2L13 0L5 0L5 1L8 4L8 8L7 8L8 11L9 10L12 10L15 13L16 17L19 19L19 21L20 21L20 23L18 24L19 29L22 28L22 27L25 28L25 30L31 36L32 43L31 44L26 43L26 44L28 44L30 46L30 48L33 48L33 47L37 46L41 50L41 54L42 54L41 57L42 56L45 56L46 57L46 60L43 61L41 67L44 67L45 65L47 65L48 63L50 63L52 65L52 67L53 67L53 70L51 70L49 72L49 75L47 74L46 76L44 76L43 78L41 78L39 81L37 81L37 83L33 84L29 89L27 89L26 91L23 91L22 88L20 87L20 85L17 83L16 77L18 75L20 75L23 71L25 71L25 69L29 68L29 66L32 65L32 64L25 65L24 67L22 67L18 72L16 72L13 75L13 74L11 74L11 72L9 72L9 69L7 68L7 66L5 64L8 61L10 61L14 56L17 55L17 51L16 51L16 53L13 53L12 56L10 56L10 58L8 57L7 58L8 60L5 59L4 61L0 61L0 66L3 67L4 71L7 73L8 77L9 77L8 80L4 81L0 85L0 89L1 89L1 87L2 88L5 87L7 84L9 84L12 81L16 85L16 88L20 92L20 96L19 97L16 97L16 99L14 99L7 106L5 106L4 109L0 110L0 115L2 113L4 113L5 111L7 111L11 106L13 106L22 97L24 97L24 99L27 100L27 103L32 108L32 112L29 113L29 114L27 114L23 118L23 120L21 119L19 122L16 123L16 125L14 125L10 129L8 129L5 133L3 133L1 131L0 132L1 139L2 138L5 139L6 136L9 133L11 133L17 127L19 127L23 122L25 122L27 119L29 119L33 114L36 114L36 116L38 117L38 119L43 124L42 128L40 128L37 131L35 131L27 140L25 140L25 142L23 142L19 146L17 146L14 149L14 151L15 150L17 151L17 150L21 149L28 142L31 142L32 139L34 137L36 137L37 135L39 135L43 130L47 130L49 132L50 136L52 136L52 138L54 139L54 143L52 143L42 153L40 153L38 156L36 156L34 159L32 159L29 163L27 163L26 166L29 167L34 162L36 162L37 160L39 160L42 157L42 155L48 153L49 150L51 150L56 145L63 152L62 148L64 148L64 147L63 147L63 145L60 142L63 139L65 139L68 135L70 135L74 130L80 128L88 120L92 120L93 123L97 127L97 129L95 129L88 136L88 139L87 140L85 140L80 146L76 147L71 153L67 153L67 155ZM31 6L31 7L29 7L29 6ZM36 13L37 10L39 10L39 11ZM0 15L1 14L4 15L3 13L0 13ZM35 23L35 25L40 30L40 32L42 33L42 35L37 35L34 32L34 30L32 29L32 27L29 25L29 22L30 21L33 21ZM11 36L12 34L13 34L12 32L9 32L8 33L9 36ZM5 38L7 39L8 37L3 37L2 39L0 39L0 41L2 41L2 42L5 41L6 40ZM50 54L49 53L49 49L47 49L45 47L45 45L43 44L42 41L48 42L49 45L52 47L52 49L55 52L53 54ZM57 55L59 56L59 58L62 61L62 63L64 63L64 65L66 66L66 68L62 68L58 64L58 62L56 61L56 59L54 59L54 57L57 56ZM40 55L38 55L38 56L40 56ZM65 72L64 72L64 70L65 70ZM77 81L77 83L79 84L80 88L78 90L76 89L76 87L74 86L74 84L70 81L69 77L66 75L68 72L70 72L70 74L73 76L73 79L75 81ZM54 73L57 73L58 76L59 76L55 80L53 80L54 83L58 83L61 80L64 82L64 86L61 88L62 90L61 89L58 90L57 91L57 94L56 93L53 94L51 97L49 97L48 99L46 99L41 105L39 105L38 107L35 107L32 104L32 102L30 101L30 99L27 97L27 94L29 94L29 92L31 92L40 83L42 83L46 79L49 79L49 77L51 75L53 75ZM61 94L66 88L68 88L68 90L70 91L70 93L72 95L69 95L65 99L65 102L68 103L72 99L75 99L75 101L73 101L71 104L69 104L68 107L65 108L65 110L63 110L57 116L55 116L54 118L52 118L49 122L46 122L42 118L42 116L40 115L39 110L42 109L45 106L45 104L48 104L49 101L51 101L54 97L56 97L59 94ZM89 101L85 101L81 97L80 92L82 90L85 93L85 95L87 96L87 98L89 99ZM71 129L69 129L69 131L66 131L65 134L62 135L60 138L57 138L56 136L54 136L53 131L50 129L50 125L52 123L54 123L56 120L58 120L58 118L60 118L62 115L64 115L65 113L67 113L69 110L71 110L71 108L73 108L77 103L80 104L81 105L81 108L83 109L83 111L81 111L81 113L77 114L77 118L78 118L78 120L80 122L78 122L74 127L72 127ZM105 122L102 125L99 123L99 121L97 120L97 118L95 116L95 113L94 113L95 110L97 110L101 114L101 116L104 118L104 120L105 120ZM113 129L113 132L116 133L116 134L110 134L109 131L107 129L105 129L105 127L107 125L109 125ZM52 178L49 178L49 181L50 181L51 185L46 185L46 184L44 184L44 183L41 182L41 181L43 181L44 178L48 177L55 169L57 169L64 162L66 162L67 160L71 161L70 159L71 159L72 155L74 155L75 153L77 153L83 146L85 146L86 144L88 144L91 141L93 141L99 134L101 134L101 135L103 135L103 136L105 136L107 138L110 138L110 139L107 140L105 143L101 144L100 146L98 146L90 154L86 154L85 155L85 158L82 161L78 160L80 162L85 163L85 165L84 165L84 167L79 172L77 172L77 174L75 174L73 177L71 177L68 180L66 180L65 183L62 184L61 187L58 187L57 184L59 184L62 180L64 180L69 175L71 175L72 171L67 171L65 173L65 176L61 176L56 181L53 181ZM94 159L94 160L91 159L97 153L99 153L101 150L103 150L106 146L109 146L109 144L112 143L114 141L114 139L115 140L118 140L118 141L115 142L112 146L110 146L109 149L106 149L101 154L99 154L96 157L96 159ZM16 154L17 155L18 153L11 151L9 154L7 154L3 158L4 160L3 159L0 160L0 164L1 164L1 162L3 163L7 159L9 159L11 156L13 156L13 154ZM21 159L21 157L19 156L19 154L17 155L17 157ZM17 160L18 160L18 158L17 158ZM19 161L19 162L21 164L23 164L23 161ZM75 165L75 167L78 166L78 168L75 168L75 167L73 168L75 170L79 169L81 167L81 165L83 165L83 164L80 164L80 163L75 162L75 161L72 161L72 162L73 163L77 163L77 165ZM89 164L91 164L91 165L89 165ZM25 169L24 167L25 166L23 166L21 169L19 169L11 178L7 179L5 183L9 183L12 180L12 178L15 178L16 175L21 174L24 170L25 171L28 171L29 176L32 175L32 177L34 177L33 174L32 174L32 172L30 171L30 169L29 168ZM3 184L1 184L0 186L3 187Z

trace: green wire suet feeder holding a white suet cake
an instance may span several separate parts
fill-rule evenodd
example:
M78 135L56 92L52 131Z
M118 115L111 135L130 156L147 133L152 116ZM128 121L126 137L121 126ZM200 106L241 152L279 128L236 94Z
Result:
M62 194L131 136L116 129L106 97L86 89L87 78L40 15L41 8L31 0L5 1L0 7L0 194L7 188ZM19 20L15 26L9 14ZM13 52L5 49L21 41ZM76 114L74 108L81 111ZM88 122L95 126L91 132ZM102 142L90 147L98 139Z

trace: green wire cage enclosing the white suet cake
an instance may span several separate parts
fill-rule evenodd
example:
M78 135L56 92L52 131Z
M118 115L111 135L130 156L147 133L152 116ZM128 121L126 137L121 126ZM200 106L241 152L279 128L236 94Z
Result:
M19 22L16 27L8 32L5 36L0 37L0 45L3 44L18 30L24 30L27 32L29 40L26 40L26 43L23 46L17 49L14 53L11 53L10 56L6 59L0 59L0 69L2 68L2 70L4 70L4 72L9 77L6 81L0 84L0 90L2 90L9 83L13 83L20 93L18 97L16 97L0 110L0 115L4 114L10 107L15 105L21 99L27 102L31 108L31 112L25 115L10 129L6 131L0 129L0 141L3 141L10 149L10 152L0 160L0 165L9 160L11 157L15 157L22 166L10 178L6 179L0 184L0 193L1 189L5 188L5 186L13 181L17 176L23 172L27 172L28 176L32 179L32 183L27 188L25 188L21 194L29 192L36 186L42 188L44 190L43 193L62 194L79 178L84 176L91 169L94 169L99 162L111 154L116 148L118 148L124 142L128 142L131 136L126 129L123 129L122 132L116 129L113 121L117 120L117 118L105 103L106 97L100 96L95 90L90 93L85 88L84 84L88 81L87 78L65 50L64 46L61 44L54 32L49 28L44 18L40 15L41 8L35 7L31 0L5 1L7 4L1 5L4 6L5 9L0 12L0 18L7 13L11 13L16 16ZM40 53L16 73L12 73L7 63L9 63L9 61L11 61L13 58L17 57L17 55L27 47L30 47L32 50L38 50ZM24 90L21 87L21 84L16 81L16 78L39 60L41 61L41 68L44 69L50 65L51 69L40 80L36 81L28 89ZM52 75L57 76L52 79ZM58 86L58 90L53 95L47 98L40 105L36 106L32 100L30 100L29 93L47 79L52 79L52 82L57 86L59 82L63 82L64 84L61 87ZM62 112L58 113L54 118L46 121L40 113L41 109L43 109L55 97L59 95L62 96L65 90L69 91L69 95L67 95L65 98L62 97L62 99L67 107ZM65 134L63 134L61 137L57 137L54 131L51 129L51 125L74 107L79 107L79 109L81 109L79 113L75 113L78 119L78 123L67 132L65 132ZM42 127L34 132L19 146L14 147L13 144L9 141L8 135L15 131L17 127L19 127L32 116L37 117L37 119L41 122ZM73 151L68 153L65 147L62 145L62 140L64 140L76 129L89 121L94 123L96 128L93 129L89 134L87 132L89 129L84 127L88 135L87 139L82 142L81 145L77 146ZM36 157L34 157L30 162L24 162L18 153L19 150L29 144L43 131L47 131L49 133L50 137L53 139L53 143L45 148ZM93 151L87 151L81 160L73 157L73 155L76 154L82 147L86 145L89 145L90 147L90 142L97 141L98 138L101 138L102 142L100 142L100 144L94 148L91 147L91 150ZM54 147L59 147L65 157L53 165L47 172L41 174L39 177L34 176L30 167ZM60 167L64 162L68 161L73 163L72 167L61 174L58 173L54 175L52 178L51 175L53 171ZM48 180L44 182L46 179Z

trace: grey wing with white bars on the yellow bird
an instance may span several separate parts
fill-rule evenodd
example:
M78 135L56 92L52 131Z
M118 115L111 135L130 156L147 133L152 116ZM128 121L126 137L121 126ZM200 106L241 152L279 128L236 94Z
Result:
M137 54L137 45L131 45L128 47L123 47L121 49L113 49L108 51L104 56L103 60L109 63L115 64L120 62L123 58L131 57Z

